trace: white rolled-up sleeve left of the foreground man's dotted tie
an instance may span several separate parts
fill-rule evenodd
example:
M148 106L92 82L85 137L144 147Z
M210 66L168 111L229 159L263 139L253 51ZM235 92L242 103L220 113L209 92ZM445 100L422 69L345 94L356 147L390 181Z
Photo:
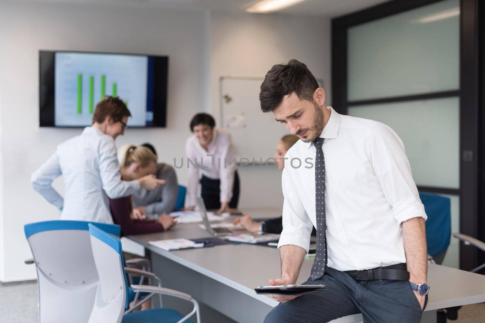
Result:
M283 231L278 242L278 249L284 245L295 245L308 252L313 224L301 203L298 192L292 183L290 172L285 168L281 177L283 188Z

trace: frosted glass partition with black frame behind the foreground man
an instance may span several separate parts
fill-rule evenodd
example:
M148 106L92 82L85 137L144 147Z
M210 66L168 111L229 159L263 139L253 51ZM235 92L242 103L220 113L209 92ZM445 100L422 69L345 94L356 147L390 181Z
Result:
M463 90L471 2L395 0L334 19L332 97L339 113L394 129L418 190L449 197L452 232L477 237L478 107ZM466 247L452 237L443 264L473 268Z

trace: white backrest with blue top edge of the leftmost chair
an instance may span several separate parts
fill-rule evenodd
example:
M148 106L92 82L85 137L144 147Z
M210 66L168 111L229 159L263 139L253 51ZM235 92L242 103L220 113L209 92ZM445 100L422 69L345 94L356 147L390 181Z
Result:
M87 322L98 275L86 221L54 220L24 226L37 269L39 322ZM98 223L120 235L120 226Z

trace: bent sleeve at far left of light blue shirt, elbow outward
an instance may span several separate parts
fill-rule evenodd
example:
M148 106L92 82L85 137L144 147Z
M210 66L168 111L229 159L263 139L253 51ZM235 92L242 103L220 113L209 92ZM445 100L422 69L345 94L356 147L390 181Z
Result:
M32 174L31 182L35 191L44 196L49 203L62 210L64 198L52 187L52 181L61 175L61 166L56 151Z

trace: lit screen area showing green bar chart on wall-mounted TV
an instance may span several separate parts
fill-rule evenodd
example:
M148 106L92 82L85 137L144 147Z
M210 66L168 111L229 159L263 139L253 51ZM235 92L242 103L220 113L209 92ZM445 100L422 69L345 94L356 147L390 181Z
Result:
M130 125L144 126L146 88L146 56L58 53L55 123L67 127L90 124L96 104L109 95L127 104Z

